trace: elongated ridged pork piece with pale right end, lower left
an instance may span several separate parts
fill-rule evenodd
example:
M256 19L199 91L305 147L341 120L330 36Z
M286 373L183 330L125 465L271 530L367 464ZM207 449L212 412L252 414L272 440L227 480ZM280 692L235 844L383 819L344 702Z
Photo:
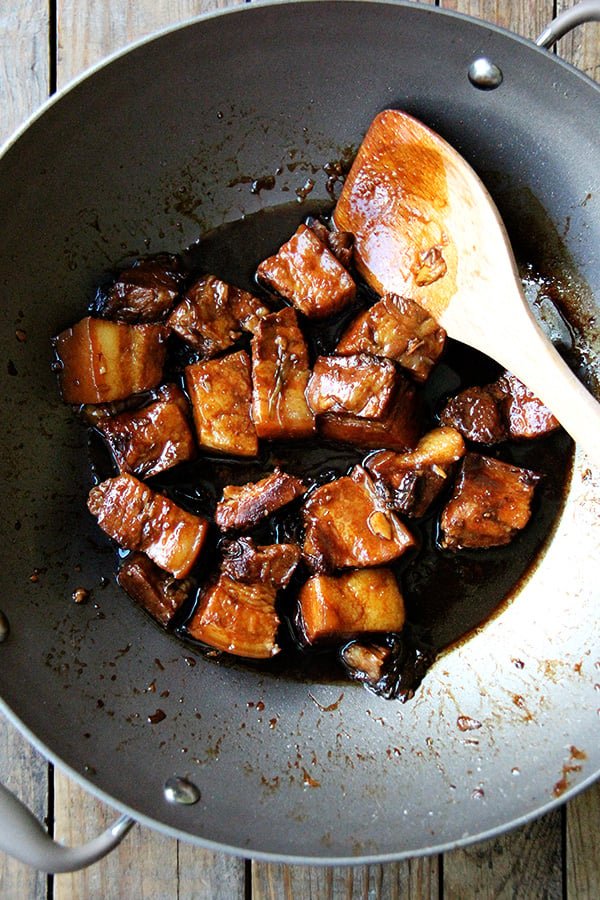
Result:
M125 550L140 550L175 578L186 578L208 533L208 522L181 509L133 475L92 488L88 509Z

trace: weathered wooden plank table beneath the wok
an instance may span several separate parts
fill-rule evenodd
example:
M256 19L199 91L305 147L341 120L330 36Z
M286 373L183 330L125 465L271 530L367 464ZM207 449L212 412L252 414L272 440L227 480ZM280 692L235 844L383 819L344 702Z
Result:
M239 0L232 0L233 3ZM575 0L441 0L535 38ZM73 76L113 50L227 0L0 0L0 141ZM559 53L600 79L600 26L565 38ZM83 792L0 721L0 779L81 843L114 811ZM0 896L39 898L583 898L600 897L600 784L509 835L428 859L320 868L235 859L135 826L119 849L83 872L46 876L0 858Z

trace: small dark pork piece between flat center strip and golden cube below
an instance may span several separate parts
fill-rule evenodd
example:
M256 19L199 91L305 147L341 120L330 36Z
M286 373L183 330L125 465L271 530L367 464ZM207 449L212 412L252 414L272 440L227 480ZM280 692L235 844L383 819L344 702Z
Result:
M240 537L222 546L221 571L234 581L261 582L276 588L287 587L300 562L296 544L256 546L252 538Z

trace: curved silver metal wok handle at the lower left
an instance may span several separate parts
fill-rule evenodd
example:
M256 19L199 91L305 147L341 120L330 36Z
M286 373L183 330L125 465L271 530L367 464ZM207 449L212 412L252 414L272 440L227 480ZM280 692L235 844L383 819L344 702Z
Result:
M33 813L0 784L0 850L41 872L75 872L106 856L135 824L129 816L79 847L54 841Z

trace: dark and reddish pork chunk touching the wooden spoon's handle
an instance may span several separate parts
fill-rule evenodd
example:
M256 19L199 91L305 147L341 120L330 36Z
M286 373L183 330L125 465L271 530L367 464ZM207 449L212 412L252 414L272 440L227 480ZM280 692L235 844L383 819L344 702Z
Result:
M452 397L440 422L482 444L540 437L559 427L541 400L509 372L491 384L475 385Z

